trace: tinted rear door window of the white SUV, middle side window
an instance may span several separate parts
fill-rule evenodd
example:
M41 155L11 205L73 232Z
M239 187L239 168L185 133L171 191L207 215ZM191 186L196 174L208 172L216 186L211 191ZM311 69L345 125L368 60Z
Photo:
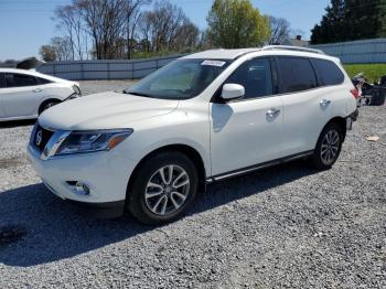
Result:
M290 94L317 87L317 76L308 58L279 57L281 93Z

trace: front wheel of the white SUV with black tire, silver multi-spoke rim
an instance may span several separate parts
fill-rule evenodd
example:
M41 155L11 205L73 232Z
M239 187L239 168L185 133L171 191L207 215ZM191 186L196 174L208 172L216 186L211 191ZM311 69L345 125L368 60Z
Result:
M137 170L128 190L127 207L143 224L172 222L194 203L197 175L193 161L185 154L161 152L146 160ZM186 184L181 185L183 183Z

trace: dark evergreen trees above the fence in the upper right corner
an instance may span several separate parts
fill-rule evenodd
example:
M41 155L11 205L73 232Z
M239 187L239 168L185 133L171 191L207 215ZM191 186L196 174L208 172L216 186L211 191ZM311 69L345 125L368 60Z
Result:
M386 0L331 0L311 32L312 44L386 36Z

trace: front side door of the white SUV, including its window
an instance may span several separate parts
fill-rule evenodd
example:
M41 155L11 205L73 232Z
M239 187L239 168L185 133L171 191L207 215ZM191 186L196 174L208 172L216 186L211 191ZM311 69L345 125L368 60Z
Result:
M281 158L282 100L274 82L270 58L248 61L226 81L243 85L245 96L211 104L212 175Z

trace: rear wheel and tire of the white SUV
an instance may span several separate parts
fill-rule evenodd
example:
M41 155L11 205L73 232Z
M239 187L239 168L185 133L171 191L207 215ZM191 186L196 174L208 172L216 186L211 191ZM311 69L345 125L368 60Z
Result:
M329 170L336 162L343 143L341 127L331 122L320 133L313 156L310 158L311 165L318 170Z

